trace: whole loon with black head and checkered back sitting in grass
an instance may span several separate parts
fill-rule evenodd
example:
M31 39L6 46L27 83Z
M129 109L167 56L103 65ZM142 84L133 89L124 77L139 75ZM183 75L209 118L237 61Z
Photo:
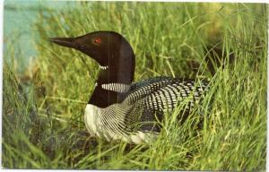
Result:
M191 110L208 90L206 81L166 76L133 83L133 48L114 31L50 40L77 49L100 64L100 75L85 108L84 120L91 135L107 141L151 142L160 133L160 122L166 112L172 112L186 98L189 101L185 108Z

